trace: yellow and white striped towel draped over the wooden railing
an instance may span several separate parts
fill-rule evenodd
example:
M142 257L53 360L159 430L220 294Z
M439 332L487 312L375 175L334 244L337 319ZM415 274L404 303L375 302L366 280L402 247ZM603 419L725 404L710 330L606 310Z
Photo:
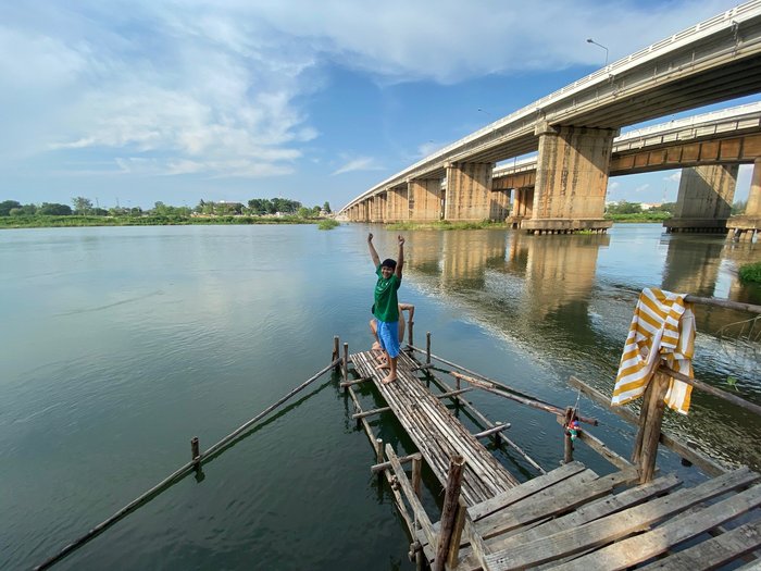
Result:
M685 295L654 287L643 289L621 356L612 405L641 396L661 362L693 377L695 315L691 306L685 303ZM687 414L691 389L687 383L671 378L664 400Z

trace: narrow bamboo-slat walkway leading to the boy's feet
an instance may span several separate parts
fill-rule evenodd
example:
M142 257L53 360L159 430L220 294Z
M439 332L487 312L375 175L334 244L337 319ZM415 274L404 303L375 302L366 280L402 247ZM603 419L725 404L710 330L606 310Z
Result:
M449 459L457 455L465 459L462 497L467 506L517 485L517 480L423 386L414 374L419 364L404 351L399 353L398 378L387 385L380 382L387 371L376 369L371 351L354 353L350 360L362 377L375 384L441 485L447 481Z

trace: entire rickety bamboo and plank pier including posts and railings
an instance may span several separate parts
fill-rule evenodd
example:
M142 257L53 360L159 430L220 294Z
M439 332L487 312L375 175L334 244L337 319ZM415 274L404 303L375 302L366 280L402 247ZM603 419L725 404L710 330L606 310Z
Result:
M731 309L761 312L757 306L726 302L688 296L688 301ZM511 387L474 373L431 352L431 333L426 348L410 344L400 353L397 382L383 385L370 352L349 356L344 345L341 387L354 405L354 418L367 435L376 454L375 473L385 476L394 494L396 506L412 539L410 559L417 568L431 566L435 570L509 570L509 569L719 569L741 560L743 569L761 569L761 475L740 467L726 467L689 447L662 430L663 396L669 376L678 377L697 389L733 402L748 411L761 414L761 407L735 395L716 389L700 381L684 377L660 368L650 383L637 417L625 407L611 407L610 397L586 385L576 377L569 383L598 404L638 426L632 459L609 449L588 430L578 430L577 440L610 462L615 471L598 475L573 459L573 440L564 431L564 458L560 468L546 472L503 431L509 424L494 424L478 412L463 393L482 389L524 406L556 415L567 427L571 420L597 425L595 419L577 418L572 407L562 409L544 402ZM335 338L334 356L338 351ZM415 353L425 361L414 359ZM458 371L447 371L456 380L450 386L436 374L436 360ZM357 380L349 380L348 363L354 367ZM424 387L415 373L424 371L425 382L441 390L434 395ZM362 410L354 392L360 383L372 382L384 397L387 407ZM462 383L469 386L462 387ZM397 386L394 386L397 385ZM467 409L469 417L484 430L471 435L454 415L440 402L449 399L457 407ZM417 402L417 407L411 404ZM444 415L440 411L446 411ZM367 418L394 412L419 451L398 457L389 444L377 438ZM435 412L432 419L425 412ZM478 437L490 435L507 444L538 476L508 489L492 489L491 497L474 494L474 481L494 477L483 466L483 450L473 446ZM450 438L458 443L450 443ZM462 442L467 442L463 446ZM477 444L477 443L476 443ZM658 446L662 444L678 454L685 466L700 468L709 479L687 487L675 474L656 477ZM448 460L448 462L447 462ZM432 520L423 507L421 463L425 461L445 492L438 522ZM412 462L408 476L403 464ZM477 468L472 469L474 463ZM681 489L676 489L682 486ZM684 544L690 543L687 548ZM639 567L644 566L644 567Z

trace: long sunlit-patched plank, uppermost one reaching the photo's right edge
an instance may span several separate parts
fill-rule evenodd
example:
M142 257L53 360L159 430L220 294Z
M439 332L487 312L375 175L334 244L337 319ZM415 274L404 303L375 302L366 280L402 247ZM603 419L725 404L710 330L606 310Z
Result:
M681 489L623 512L592 521L578 529L564 530L542 539L502 549L487 557L492 569L520 569L585 551L647 529L654 522L721 496L734 488L752 484L760 476L747 468L734 470L690 488Z

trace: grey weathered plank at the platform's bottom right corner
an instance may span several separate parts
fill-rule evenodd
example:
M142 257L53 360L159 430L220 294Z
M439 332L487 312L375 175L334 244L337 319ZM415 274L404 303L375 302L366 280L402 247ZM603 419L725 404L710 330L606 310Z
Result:
M659 569L700 571L703 569L716 569L751 553L759 546L761 546L761 521L754 521L637 569L639 571L657 571ZM747 569L748 571L750 569L761 569L761 561L757 560L747 568L743 567L741 569Z

